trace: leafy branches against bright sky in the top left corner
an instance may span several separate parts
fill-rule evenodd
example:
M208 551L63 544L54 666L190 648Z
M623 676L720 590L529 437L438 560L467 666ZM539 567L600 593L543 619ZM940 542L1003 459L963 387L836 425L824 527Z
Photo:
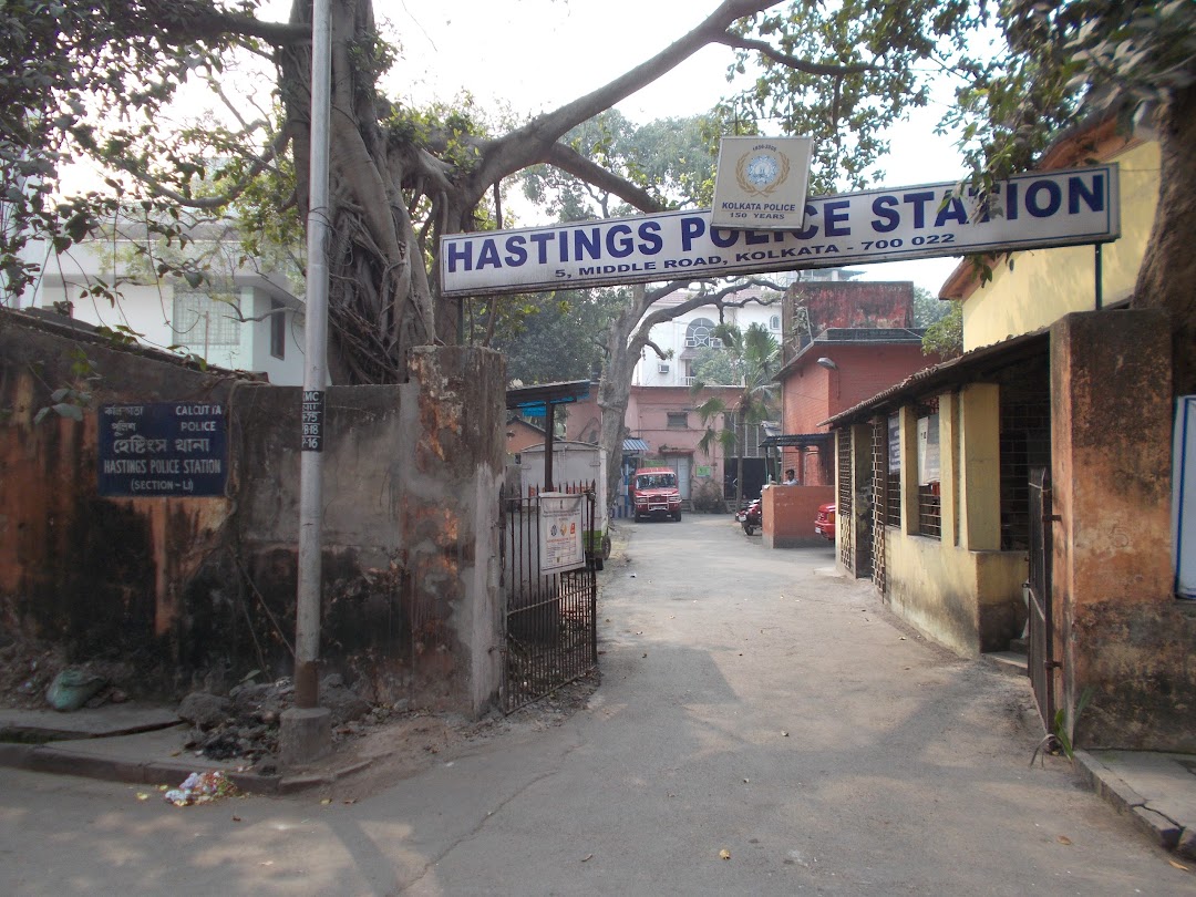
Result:
M188 183L199 171L193 152L157 139L155 118L195 72L219 71L239 38L232 24L251 19L256 4L163 5L153 0L104 4L0 5L0 270L19 293L37 274L20 251L47 237L55 251L81 240L122 201L111 193L60 199L63 164L91 158L110 170L157 170L157 179ZM200 28L208 17L226 28ZM173 166L170 173L164 173Z

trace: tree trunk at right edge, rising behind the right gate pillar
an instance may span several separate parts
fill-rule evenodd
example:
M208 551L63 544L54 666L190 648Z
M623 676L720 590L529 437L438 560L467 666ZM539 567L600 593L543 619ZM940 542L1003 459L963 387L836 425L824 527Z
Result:
M1139 269L1134 305L1171 313L1172 389L1196 392L1196 87L1179 91L1159 120L1159 207Z

